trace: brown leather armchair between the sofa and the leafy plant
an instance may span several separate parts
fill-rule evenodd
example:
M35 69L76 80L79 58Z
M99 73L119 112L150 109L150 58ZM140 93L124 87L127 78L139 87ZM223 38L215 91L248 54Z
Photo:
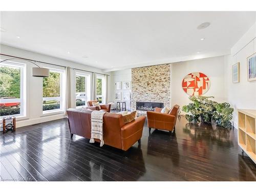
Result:
M155 112L147 111L147 126L151 128L172 132L175 129L180 106L174 105L168 114L161 113L161 108L155 108Z

